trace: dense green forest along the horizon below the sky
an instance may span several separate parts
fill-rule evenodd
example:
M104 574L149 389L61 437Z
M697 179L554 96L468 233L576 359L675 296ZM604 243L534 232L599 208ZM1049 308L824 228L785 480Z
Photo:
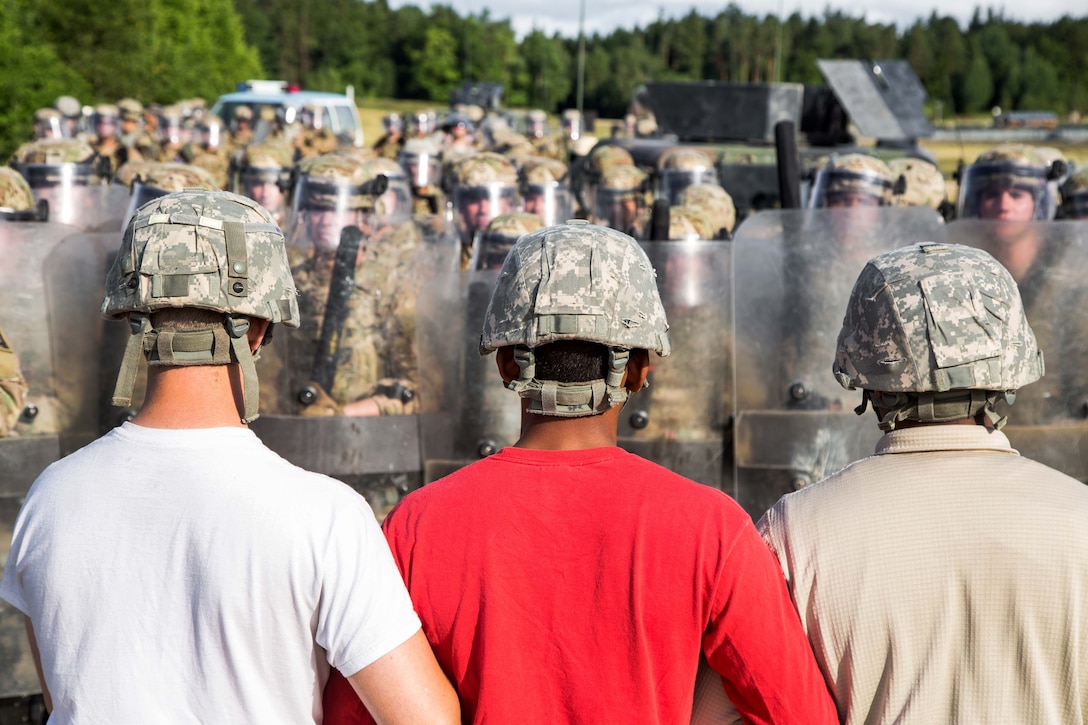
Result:
M462 81L503 83L506 103L576 105L578 38L453 8L386 0L0 0L0 151L61 94L213 99L239 79L283 78L360 97L444 103ZM1023 24L976 11L899 30L827 11L780 22L735 5L585 38L584 107L622 114L647 79L823 83L820 58L905 58L944 116L1088 107L1088 15Z

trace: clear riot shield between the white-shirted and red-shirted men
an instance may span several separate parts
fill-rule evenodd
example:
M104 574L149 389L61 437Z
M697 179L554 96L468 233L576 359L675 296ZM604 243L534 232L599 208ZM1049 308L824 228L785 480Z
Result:
M422 483L418 298L459 263L454 230L426 221L364 236L350 279L331 260L294 257L301 325L277 325L257 362L254 431L292 463L353 486L379 517ZM347 294L330 302L331 288Z

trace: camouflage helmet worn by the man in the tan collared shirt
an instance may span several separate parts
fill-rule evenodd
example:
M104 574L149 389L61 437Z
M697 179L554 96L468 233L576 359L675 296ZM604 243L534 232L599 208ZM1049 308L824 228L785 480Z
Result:
M834 377L904 419L947 422L993 413L1038 380L1042 352L1016 282L981 249L924 242L869 260L854 284L836 347Z

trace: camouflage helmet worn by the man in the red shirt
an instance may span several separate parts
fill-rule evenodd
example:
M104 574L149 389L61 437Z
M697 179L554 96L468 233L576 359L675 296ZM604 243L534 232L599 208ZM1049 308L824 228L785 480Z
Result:
M585 383L537 380L533 349L562 340L608 348L606 378ZM518 239L484 315L480 353L515 346L520 368L507 388L541 415L582 417L627 400L631 349L671 352L656 273L627 234L586 222L545 226Z

